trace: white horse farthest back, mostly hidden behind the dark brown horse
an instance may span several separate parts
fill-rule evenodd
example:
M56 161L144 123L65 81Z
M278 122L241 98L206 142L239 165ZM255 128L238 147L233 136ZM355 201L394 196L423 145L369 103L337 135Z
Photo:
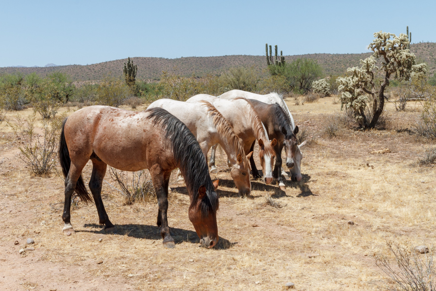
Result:
M292 130L295 129L295 122L294 122L294 118L292 117L291 112L289 111L288 106L286 105L286 103L283 101L283 96L279 95L277 93L270 93L270 94L266 94L266 95L259 95L259 94L254 94L251 92L246 92L246 91L242 91L242 90L231 90L229 92L226 92L224 94L221 94L219 96L219 98L223 98L223 99L234 99L237 97L244 97L247 99L255 99L267 104L279 104L280 107L283 109L283 111L286 113L286 115L288 115L289 121L290 121L290 125L292 126ZM301 160L303 159L303 154L301 153L301 147L306 145L306 141L302 142L300 145L298 145L297 149L296 149L296 153L295 153L295 157L294 157L294 167L289 168L289 171L291 172L291 179L292 180L297 180L300 181L302 176L301 176ZM284 171L282 171L283 174Z

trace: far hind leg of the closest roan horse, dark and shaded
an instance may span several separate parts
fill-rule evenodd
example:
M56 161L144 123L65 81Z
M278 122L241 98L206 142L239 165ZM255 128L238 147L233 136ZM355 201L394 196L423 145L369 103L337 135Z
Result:
M101 199L101 186L103 184L103 178L105 178L106 169L108 165L102 162L100 159L92 159L93 162L93 173L89 181L89 189L93 194L95 206L97 207L98 219L100 224L105 225L106 232L112 232L115 230L115 226L110 222L109 216L106 213L105 206Z

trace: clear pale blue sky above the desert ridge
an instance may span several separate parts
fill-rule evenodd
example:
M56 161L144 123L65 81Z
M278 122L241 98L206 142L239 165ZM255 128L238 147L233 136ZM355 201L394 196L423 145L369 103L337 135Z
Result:
M435 11L434 0L2 0L0 67L264 55L265 43L285 55L360 53L374 32L406 25L412 43L436 42Z

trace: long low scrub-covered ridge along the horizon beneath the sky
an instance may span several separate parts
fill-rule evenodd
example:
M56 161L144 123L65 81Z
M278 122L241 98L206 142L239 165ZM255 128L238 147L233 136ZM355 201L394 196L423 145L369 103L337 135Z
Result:
M436 72L436 43L419 43L410 46L410 50L417 56L419 62L425 62L430 74ZM360 66L359 60L365 59L371 52L358 54L327 54L315 53L305 55L285 56L290 62L297 58L314 59L324 68L326 75L342 75L348 67ZM232 67L253 67L262 72L266 68L265 56L230 55L217 57L186 57L178 59L130 57L138 65L139 80L158 80L162 71L175 73L181 76L202 77L207 74L220 74ZM36 72L46 76L53 71L61 71L71 76L73 81L97 81L107 75L120 76L126 59L115 60L93 65L60 65L47 64L45 67L1 67L0 74L22 72L30 74Z

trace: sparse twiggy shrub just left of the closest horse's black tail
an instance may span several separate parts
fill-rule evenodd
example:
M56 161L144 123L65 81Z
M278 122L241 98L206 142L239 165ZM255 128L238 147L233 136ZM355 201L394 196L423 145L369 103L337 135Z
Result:
M58 136L62 119L43 119L43 136L36 134L36 113L28 118L19 115L8 122L16 136L21 140L20 158L30 167L31 171L40 177L46 177L58 163Z

